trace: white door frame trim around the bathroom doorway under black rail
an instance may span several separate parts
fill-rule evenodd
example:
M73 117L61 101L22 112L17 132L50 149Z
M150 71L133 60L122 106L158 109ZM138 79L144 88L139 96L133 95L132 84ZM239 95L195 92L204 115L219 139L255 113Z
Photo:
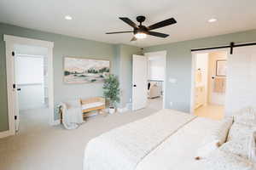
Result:
M191 60L191 89L190 89L190 114L194 115L195 113L195 66L196 66L196 55L197 54L209 54L213 52L230 52L230 48L218 48L218 49L207 49L201 51L192 51L192 60Z

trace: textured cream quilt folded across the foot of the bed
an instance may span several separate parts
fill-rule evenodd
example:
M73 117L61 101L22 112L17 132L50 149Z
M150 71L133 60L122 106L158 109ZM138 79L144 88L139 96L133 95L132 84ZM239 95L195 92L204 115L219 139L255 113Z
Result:
M134 170L152 150L195 116L162 110L91 139L84 152L84 170Z

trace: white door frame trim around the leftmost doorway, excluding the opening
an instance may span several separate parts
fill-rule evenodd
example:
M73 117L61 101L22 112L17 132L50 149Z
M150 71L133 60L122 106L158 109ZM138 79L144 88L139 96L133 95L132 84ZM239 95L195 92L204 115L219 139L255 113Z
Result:
M43 48L48 48L48 82L49 82L49 124L54 124L54 83L53 83L53 48L54 42L48 42L38 39L31 39L26 37L15 37L10 35L3 35L5 42L5 57L6 57L6 76L7 76L7 94L8 94L8 117L9 117L9 135L15 135L15 105L17 90L14 90L15 83L15 59L12 52L15 51L15 44L31 45Z

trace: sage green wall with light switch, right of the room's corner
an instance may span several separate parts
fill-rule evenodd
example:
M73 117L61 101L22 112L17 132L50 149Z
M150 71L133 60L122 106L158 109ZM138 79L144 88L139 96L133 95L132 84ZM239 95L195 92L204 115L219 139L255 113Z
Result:
M166 77L177 79L177 83L166 84L166 107L189 112L191 88L191 48L205 48L229 44L230 42L256 42L256 30L243 31L215 37L206 37L185 42L173 42L145 48L145 52L167 51ZM172 107L170 102L172 101Z

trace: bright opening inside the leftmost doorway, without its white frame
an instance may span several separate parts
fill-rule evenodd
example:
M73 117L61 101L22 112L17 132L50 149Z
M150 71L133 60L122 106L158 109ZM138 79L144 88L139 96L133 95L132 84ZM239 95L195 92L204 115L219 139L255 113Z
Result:
M16 131L48 126L48 48L15 44L15 86L20 126ZM41 127L42 127L41 125Z

